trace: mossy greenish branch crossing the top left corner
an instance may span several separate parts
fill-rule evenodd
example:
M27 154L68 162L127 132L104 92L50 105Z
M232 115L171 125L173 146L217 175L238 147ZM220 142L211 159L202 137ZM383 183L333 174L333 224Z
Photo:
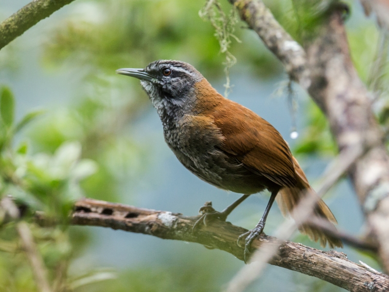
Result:
M73 0L34 0L0 23L0 50Z

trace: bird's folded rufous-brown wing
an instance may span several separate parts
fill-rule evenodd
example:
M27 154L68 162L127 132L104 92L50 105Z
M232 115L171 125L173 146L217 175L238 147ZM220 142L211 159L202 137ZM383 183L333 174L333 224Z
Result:
M292 154L281 134L256 113L228 101L212 112L224 136L221 149L280 186L296 184Z

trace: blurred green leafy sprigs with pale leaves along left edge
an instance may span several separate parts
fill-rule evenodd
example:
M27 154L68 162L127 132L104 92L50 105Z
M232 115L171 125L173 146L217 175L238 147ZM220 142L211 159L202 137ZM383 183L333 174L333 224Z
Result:
M63 277L66 263L72 256L67 220L75 199L83 194L80 181L96 171L97 164L81 159L81 145L65 142L53 154L29 154L28 144L13 146L14 135L32 122L41 112L31 112L15 122L15 99L10 89L2 88L0 100L0 194L12 195L29 211L43 211L59 224L38 227L30 224L50 277L54 282ZM20 249L15 222L9 222L4 212L0 220L0 289L3 291L35 291L31 270L24 251ZM26 220L30 220L25 214ZM60 274L55 274L63 270ZM62 285L62 284L61 284ZM64 283L63 285L67 285Z

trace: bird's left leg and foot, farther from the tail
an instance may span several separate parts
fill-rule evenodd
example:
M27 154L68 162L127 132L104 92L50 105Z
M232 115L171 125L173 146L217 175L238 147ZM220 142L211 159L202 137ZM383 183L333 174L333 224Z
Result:
M226 209L224 209L221 212L216 211L212 207L212 202L206 202L204 206L202 206L199 210L199 212L202 214L201 217L195 222L195 225L193 225L193 230L198 228L201 223L203 223L205 226L207 226L207 223L209 223L212 220L219 219L222 221L226 221L227 216L230 215L233 209L235 209L241 202L245 201L248 198L249 195L243 195L238 200L234 201L230 206L228 206Z

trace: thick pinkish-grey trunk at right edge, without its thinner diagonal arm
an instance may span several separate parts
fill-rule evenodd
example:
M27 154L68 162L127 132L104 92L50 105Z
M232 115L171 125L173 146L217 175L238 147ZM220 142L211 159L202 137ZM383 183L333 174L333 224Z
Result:
M308 91L326 114L339 149L355 145L369 149L349 175L389 271L389 157L371 108L371 94L350 58L340 13L330 16L320 36L307 46L307 55L312 72Z

